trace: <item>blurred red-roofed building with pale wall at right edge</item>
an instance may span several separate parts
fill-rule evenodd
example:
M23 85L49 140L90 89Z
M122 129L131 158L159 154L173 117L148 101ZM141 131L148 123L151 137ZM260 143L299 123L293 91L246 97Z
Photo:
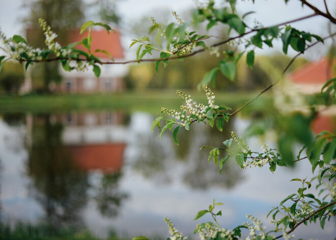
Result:
M328 59L310 62L293 71L288 77L300 92L304 94L318 93L328 79L336 76L335 61L333 63L329 66Z

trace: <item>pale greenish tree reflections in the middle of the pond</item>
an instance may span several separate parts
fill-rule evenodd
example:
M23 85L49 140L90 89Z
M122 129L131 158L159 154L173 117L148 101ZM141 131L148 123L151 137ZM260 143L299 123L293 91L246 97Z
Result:
M232 188L242 179L239 169L227 163L219 175L213 162L209 164L207 161L209 149L199 150L203 145L222 146L224 140L230 139L231 128L231 124L226 123L223 132L202 125L191 127L189 131L181 129L179 146L173 144L172 136L168 136L172 134L170 131L164 133L160 142L152 135L138 136L141 141L136 141L138 151L133 168L147 178L155 178L156 182L170 182L174 172L179 171L184 183L194 189Z

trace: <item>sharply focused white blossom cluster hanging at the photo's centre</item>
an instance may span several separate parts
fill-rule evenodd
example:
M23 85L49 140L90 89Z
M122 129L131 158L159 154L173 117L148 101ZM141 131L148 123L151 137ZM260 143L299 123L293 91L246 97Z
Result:
M204 87L204 90L206 92L206 96L208 99L208 104L209 105L205 105L203 103L197 103L195 101L192 100L190 95L185 94L184 92L178 90L177 93L185 100L186 105L182 105L181 106L181 112L177 112L175 110L169 110L166 108L161 108L161 113L166 113L171 115L173 118L180 120L181 122L183 122L182 125L184 125L185 123L190 123L193 120L197 120L197 119L205 119L206 118L206 110L207 109L218 109L219 106L215 105L215 95L213 94L213 92L211 91L210 88L208 88L208 86ZM187 115L189 114L189 115Z

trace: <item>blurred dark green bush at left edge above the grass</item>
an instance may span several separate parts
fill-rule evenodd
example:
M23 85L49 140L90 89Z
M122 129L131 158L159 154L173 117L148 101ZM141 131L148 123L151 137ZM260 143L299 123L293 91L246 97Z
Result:
M17 94L24 82L24 70L20 63L7 61L0 75L0 85L3 90L9 93Z

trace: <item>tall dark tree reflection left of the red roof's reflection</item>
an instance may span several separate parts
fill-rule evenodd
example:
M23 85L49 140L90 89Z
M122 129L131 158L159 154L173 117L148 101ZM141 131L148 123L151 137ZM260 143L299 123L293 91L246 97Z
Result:
M72 226L80 223L80 209L87 202L87 173L77 171L63 146L63 126L51 124L49 115L34 117L28 172L33 179L36 199L50 224Z

